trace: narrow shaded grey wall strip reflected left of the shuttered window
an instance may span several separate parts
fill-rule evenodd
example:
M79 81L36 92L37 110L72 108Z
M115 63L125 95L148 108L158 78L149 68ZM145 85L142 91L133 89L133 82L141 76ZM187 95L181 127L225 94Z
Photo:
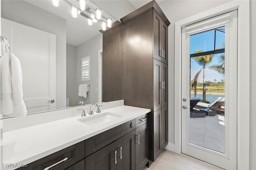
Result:
M78 106L76 103L76 47L67 44L67 98L69 106Z

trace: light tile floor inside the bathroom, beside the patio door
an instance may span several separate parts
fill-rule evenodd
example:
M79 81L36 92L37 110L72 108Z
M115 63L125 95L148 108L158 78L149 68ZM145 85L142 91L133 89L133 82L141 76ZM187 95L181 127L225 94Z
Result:
M184 154L164 149L155 162L142 170L222 170Z

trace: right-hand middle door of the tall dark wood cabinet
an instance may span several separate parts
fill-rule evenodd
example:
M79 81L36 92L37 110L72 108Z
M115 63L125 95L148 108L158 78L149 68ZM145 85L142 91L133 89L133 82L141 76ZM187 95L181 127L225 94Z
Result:
M163 88L162 88L162 108L168 106L168 65L162 63L162 80Z

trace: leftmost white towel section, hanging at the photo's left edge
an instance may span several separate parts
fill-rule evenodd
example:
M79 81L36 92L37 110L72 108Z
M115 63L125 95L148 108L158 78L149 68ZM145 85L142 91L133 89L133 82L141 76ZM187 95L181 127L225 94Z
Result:
M10 72L10 57L5 54L1 58L1 114L13 115L14 106L12 100L12 82Z

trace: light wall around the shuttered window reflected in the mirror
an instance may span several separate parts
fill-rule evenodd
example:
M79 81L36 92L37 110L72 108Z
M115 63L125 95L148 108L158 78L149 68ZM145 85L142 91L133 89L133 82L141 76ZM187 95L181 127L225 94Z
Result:
M90 84L90 90L87 93L87 98L77 96L76 103L80 100L85 104L92 104L98 102L98 50L102 49L102 34L86 41L85 43L76 47L76 94L78 94L79 84ZM90 81L81 81L81 59L90 55Z

